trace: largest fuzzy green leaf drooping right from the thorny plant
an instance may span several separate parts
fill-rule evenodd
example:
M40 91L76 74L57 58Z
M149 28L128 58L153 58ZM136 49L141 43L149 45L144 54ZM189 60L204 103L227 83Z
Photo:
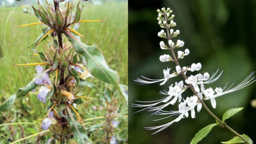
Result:
M67 34L68 40L73 44L74 50L77 54L85 58L86 64L90 74L101 82L113 84L117 90L122 93L119 86L119 76L116 71L113 71L107 65L102 52L95 45L87 46L80 42L77 38L70 33Z

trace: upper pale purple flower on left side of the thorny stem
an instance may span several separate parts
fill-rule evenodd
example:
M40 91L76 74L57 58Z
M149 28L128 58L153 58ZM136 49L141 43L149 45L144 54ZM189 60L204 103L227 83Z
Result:
M43 66L40 66L40 65L36 66L36 72L37 72L36 75L40 75L43 72ZM47 73L43 74L42 79L41 78L36 79L35 83L38 85L44 84L44 85L52 86L51 80Z

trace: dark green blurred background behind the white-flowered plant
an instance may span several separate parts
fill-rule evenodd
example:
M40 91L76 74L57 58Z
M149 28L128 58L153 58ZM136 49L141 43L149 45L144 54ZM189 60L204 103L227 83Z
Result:
M180 35L174 38L184 40L190 54L179 62L182 66L190 66L193 62L201 62L200 73L210 75L218 68L224 70L223 75L213 84L206 87L223 87L230 83L242 82L252 71L256 70L256 1L255 0L129 0L129 143L130 144L189 144L198 130L214 123L215 120L202 109L196 112L196 118L182 119L167 129L150 136L154 131L143 129L143 126L157 126L170 122L173 118L159 120L150 116L150 112L131 107L135 100L159 100L163 95L160 90L168 90L168 86L182 77L171 79L164 86L159 83L138 85L133 80L141 75L147 78L163 78L163 69L175 69L174 63L159 61L162 54L170 54L161 50L157 36L161 30L157 24L158 8L170 7L175 15L174 21ZM166 42L167 44L167 42ZM171 55L171 54L170 54ZM188 73L190 75L190 73ZM219 118L230 108L244 109L228 119L227 124L240 134L246 134L256 142L256 109L253 104L256 98L256 83L216 98L217 107L213 109L209 101L206 104ZM186 91L183 96L191 96ZM174 105L170 109L177 110ZM218 144L234 137L230 131L214 127L200 144Z

